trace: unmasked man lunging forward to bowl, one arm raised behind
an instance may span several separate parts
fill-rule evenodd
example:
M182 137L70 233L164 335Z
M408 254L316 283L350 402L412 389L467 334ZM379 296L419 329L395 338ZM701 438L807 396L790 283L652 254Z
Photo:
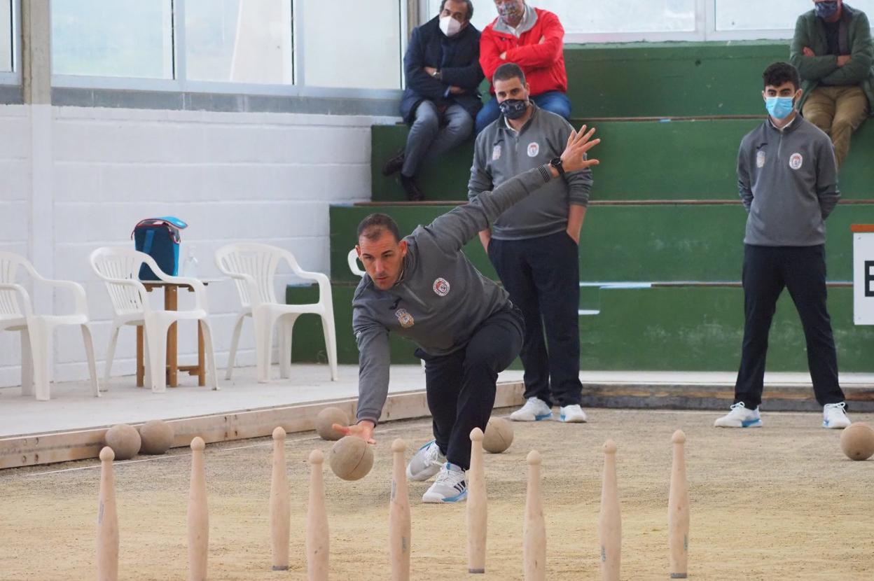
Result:
M598 163L585 153L600 140L593 131L572 134L560 158L565 171ZM503 288L482 276L461 252L468 240L529 196L548 195L559 170L539 165L483 192L427 226L400 239L385 214L358 225L358 256L367 271L352 301L359 351L357 424L343 429L373 442L389 382L389 332L418 344L425 360L428 408L434 440L413 455L406 472L414 481L438 474L425 502L467 496L470 431L485 429L495 405L497 374L522 346L523 320ZM340 426L336 426L340 429Z

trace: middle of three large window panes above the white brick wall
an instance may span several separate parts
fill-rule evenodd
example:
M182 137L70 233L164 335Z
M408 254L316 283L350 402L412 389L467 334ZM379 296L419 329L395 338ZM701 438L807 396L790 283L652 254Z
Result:
M292 83L291 0L187 0L191 80Z

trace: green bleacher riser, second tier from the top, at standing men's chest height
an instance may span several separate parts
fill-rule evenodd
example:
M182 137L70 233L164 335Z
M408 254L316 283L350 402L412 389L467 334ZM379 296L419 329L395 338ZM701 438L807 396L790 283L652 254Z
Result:
M736 163L740 140L761 119L718 121L597 121L603 140L593 149L593 200L738 198ZM579 127L582 121L575 121ZM382 164L403 148L407 128L375 126L371 135L371 173L375 202L406 200L397 176L385 177ZM847 199L874 198L874 128L865 123L855 135L841 170ZM419 183L429 200L465 200L473 142L425 167Z

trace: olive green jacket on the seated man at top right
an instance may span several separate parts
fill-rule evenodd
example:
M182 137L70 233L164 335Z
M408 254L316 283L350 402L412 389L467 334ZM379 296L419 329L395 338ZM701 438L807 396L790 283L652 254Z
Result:
M798 104L799 111L810 92L817 86L858 85L868 97L869 114L874 114L874 45L871 45L871 26L862 10L843 4L843 11L846 14L841 18L846 24L842 25L841 32L843 35L843 26L846 26L846 48L851 57L850 62L844 66L837 66L837 57L827 54L829 45L825 25L821 18L816 17L815 10L805 12L795 23L789 60L801 73L801 88L804 93L801 95L801 103ZM805 46L817 56L805 57Z

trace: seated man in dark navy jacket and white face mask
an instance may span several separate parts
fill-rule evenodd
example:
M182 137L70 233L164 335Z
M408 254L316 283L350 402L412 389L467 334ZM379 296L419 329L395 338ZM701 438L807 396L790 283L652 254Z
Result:
M413 30L406 49L400 113L412 127L406 148L385 162L383 175L400 171L411 201L425 198L415 181L421 163L468 139L482 107L480 31L470 24L473 14L470 0L443 0L440 14Z

